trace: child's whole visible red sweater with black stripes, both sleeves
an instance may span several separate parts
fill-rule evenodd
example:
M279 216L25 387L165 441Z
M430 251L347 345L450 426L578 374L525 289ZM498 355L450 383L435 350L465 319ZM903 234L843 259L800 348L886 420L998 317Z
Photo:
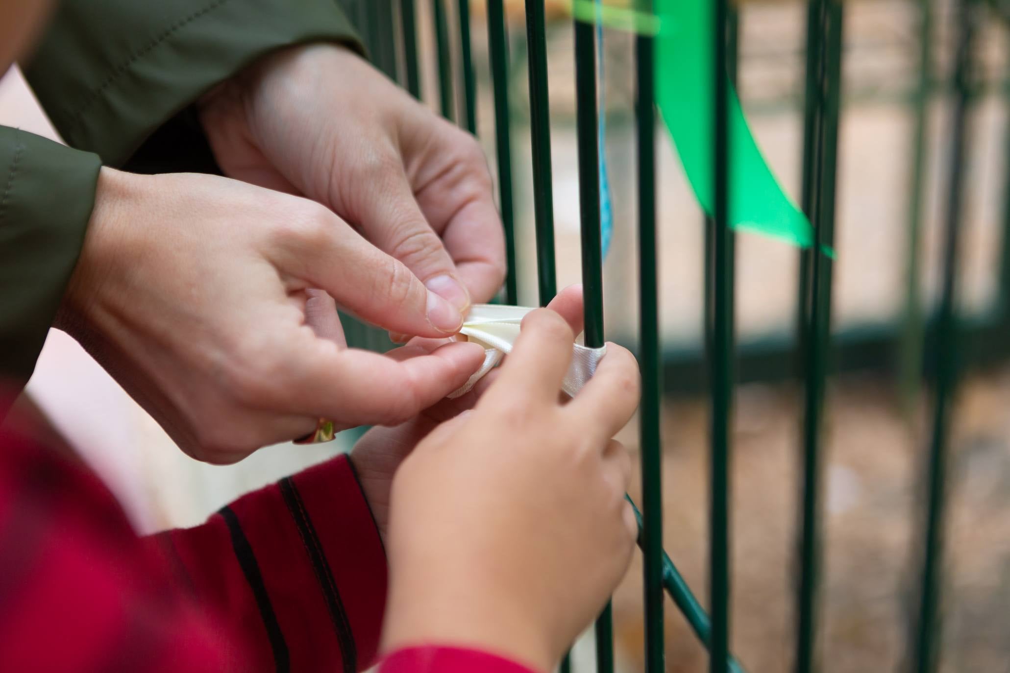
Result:
M249 493L203 526L139 539L93 472L8 421L3 670L286 673L361 670L373 658L385 557L345 458ZM446 647L393 653L380 671L531 673Z

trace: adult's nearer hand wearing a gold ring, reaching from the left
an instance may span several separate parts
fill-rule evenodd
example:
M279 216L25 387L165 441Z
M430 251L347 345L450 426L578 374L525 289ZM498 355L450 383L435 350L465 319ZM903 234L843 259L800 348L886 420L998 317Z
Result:
M304 436L320 417L338 429L403 423L483 360L459 342L347 348L336 304L430 338L462 324L313 201L213 176L102 169L56 326L184 451L215 463Z

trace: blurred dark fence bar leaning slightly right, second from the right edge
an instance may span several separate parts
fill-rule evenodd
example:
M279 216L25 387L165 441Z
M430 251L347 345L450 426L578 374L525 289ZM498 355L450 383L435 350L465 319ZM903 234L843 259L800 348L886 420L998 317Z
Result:
M923 536L922 587L919 623L915 634L914 670L933 673L939 660L940 575L943 562L943 518L946 452L951 399L957 380L957 318L955 313L957 248L965 198L965 164L968 117L971 106L974 3L954 5L956 46L954 55L954 103L950 122L950 161L947 164L947 196L943 231L943 282L936 315L936 344L932 353L932 438L926 477L926 527Z

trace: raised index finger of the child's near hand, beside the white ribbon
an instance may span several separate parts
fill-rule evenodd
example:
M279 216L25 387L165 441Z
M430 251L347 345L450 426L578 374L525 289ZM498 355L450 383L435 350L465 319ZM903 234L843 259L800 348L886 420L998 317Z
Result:
M537 309L526 314L502 373L486 397L522 396L540 404L556 401L574 341L572 328L553 311Z

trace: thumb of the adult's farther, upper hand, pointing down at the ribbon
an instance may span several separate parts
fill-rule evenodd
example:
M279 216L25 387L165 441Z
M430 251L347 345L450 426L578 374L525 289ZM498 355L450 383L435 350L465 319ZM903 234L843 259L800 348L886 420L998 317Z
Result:
M466 313L470 293L441 237L428 224L402 171L363 185L355 204L358 228L379 249L396 257L425 288Z

